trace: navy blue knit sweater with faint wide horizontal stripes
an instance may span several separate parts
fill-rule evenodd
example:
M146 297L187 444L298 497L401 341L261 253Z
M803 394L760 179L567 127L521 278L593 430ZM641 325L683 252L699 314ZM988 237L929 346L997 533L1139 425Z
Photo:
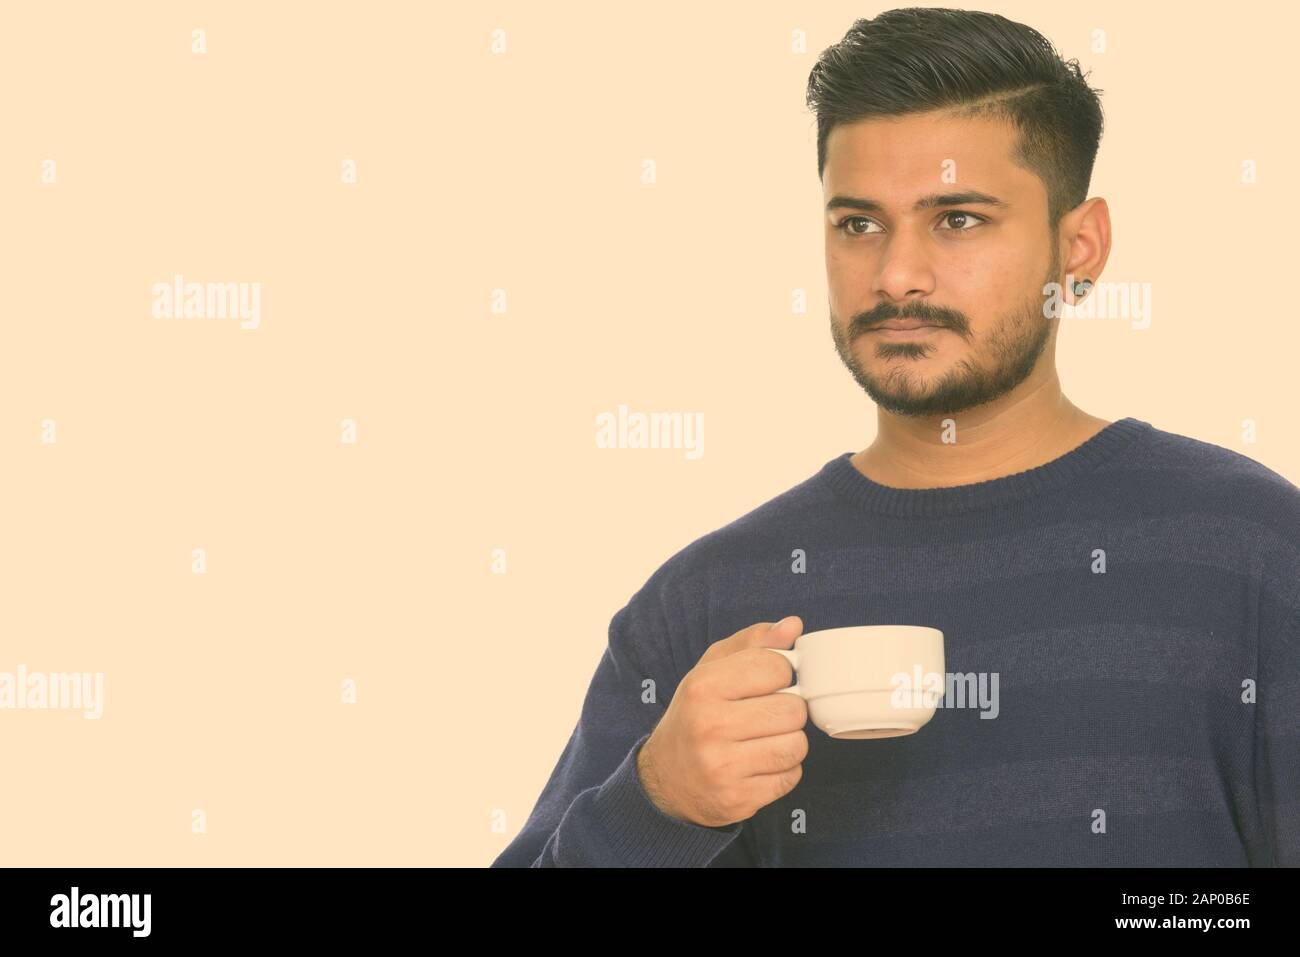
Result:
M673 554L614 615L493 866L1300 865L1300 489L1132 417L953 488L879 485L850 455ZM751 818L663 814L636 758L676 685L785 615L932 625L948 674L997 675L996 696L945 698L894 739L809 722L802 779Z

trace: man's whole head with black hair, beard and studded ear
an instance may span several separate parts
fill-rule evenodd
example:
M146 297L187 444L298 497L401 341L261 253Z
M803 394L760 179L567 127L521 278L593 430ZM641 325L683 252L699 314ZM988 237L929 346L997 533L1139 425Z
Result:
M1078 62L996 14L889 10L822 53L809 105L831 332L867 394L945 415L1054 374L1044 285L1062 265L1095 282L1110 246L1105 202L1087 200L1101 107ZM939 328L878 329L909 319Z

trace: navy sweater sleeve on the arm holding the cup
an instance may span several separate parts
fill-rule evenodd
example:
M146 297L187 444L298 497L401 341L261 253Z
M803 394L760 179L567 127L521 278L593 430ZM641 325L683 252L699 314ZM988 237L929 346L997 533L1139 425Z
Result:
M744 822L705 827L672 818L641 784L637 754L677 680L666 632L650 589L615 614L568 744L493 867L707 867L737 840Z

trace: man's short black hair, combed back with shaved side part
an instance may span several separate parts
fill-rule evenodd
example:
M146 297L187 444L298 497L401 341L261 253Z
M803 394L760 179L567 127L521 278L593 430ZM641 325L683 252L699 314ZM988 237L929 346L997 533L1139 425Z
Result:
M907 7L858 20L809 74L816 174L836 124L948 111L993 116L1019 130L1013 159L1048 194L1048 222L1088 198L1101 142L1100 90L1032 27L980 10Z

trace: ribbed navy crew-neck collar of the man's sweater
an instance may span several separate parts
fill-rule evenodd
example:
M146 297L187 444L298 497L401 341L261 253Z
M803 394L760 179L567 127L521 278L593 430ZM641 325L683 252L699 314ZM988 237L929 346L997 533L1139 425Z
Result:
M1092 438L1052 462L966 485L936 489L900 489L881 485L857 469L849 460L854 455L852 451L836 455L826 463L820 477L858 508L875 515L954 515L992 508L1058 489L1088 475L1130 446L1135 438L1153 430L1154 426L1141 419L1132 416L1117 419Z

